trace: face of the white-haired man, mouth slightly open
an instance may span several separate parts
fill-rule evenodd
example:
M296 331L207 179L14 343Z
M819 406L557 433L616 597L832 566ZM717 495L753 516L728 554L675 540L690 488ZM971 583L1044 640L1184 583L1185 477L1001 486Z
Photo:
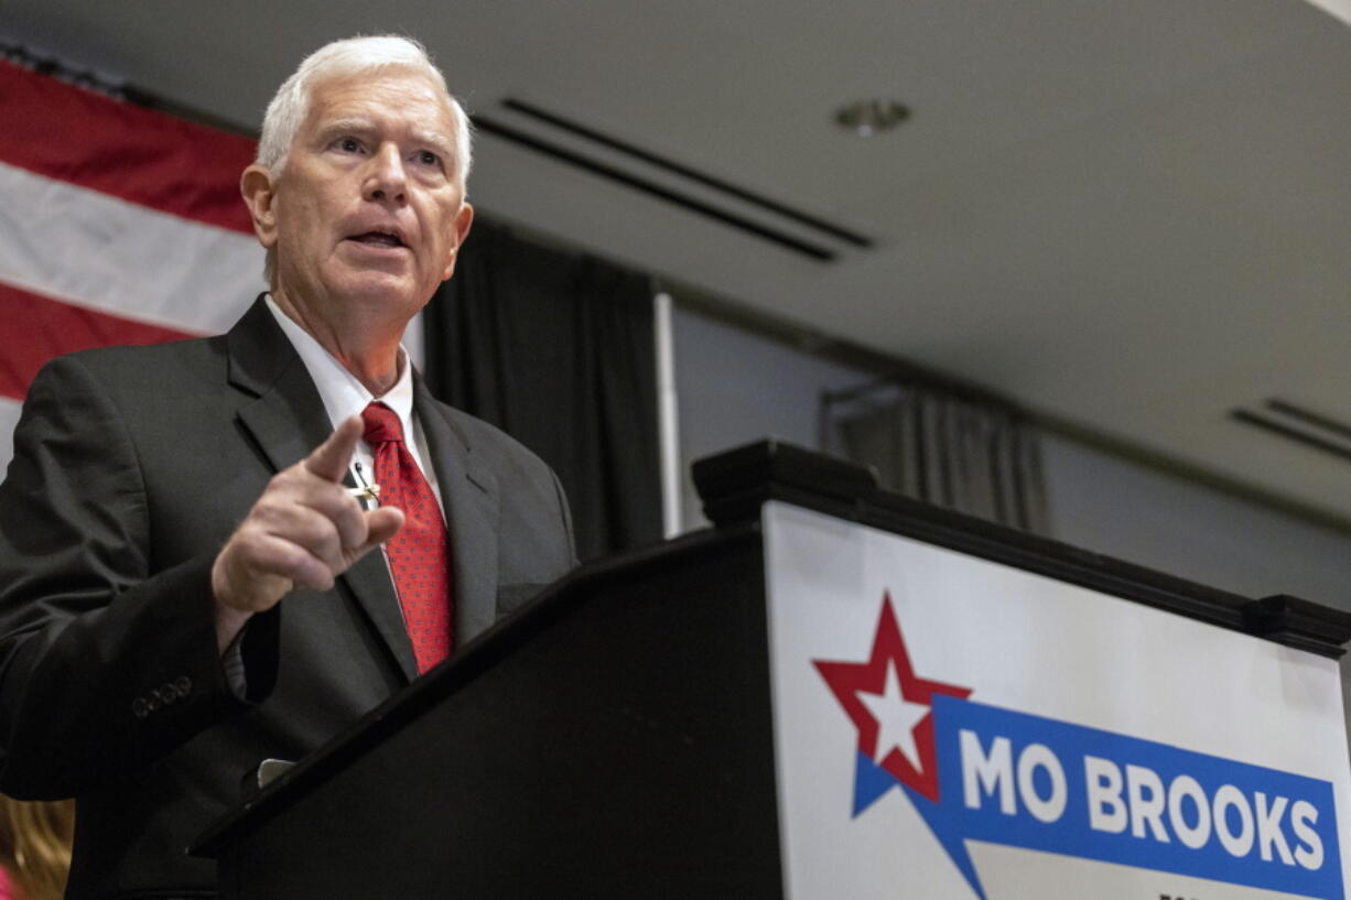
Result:
M273 180L277 288L335 328L412 318L450 277L473 218L454 150L454 118L422 74L319 82Z

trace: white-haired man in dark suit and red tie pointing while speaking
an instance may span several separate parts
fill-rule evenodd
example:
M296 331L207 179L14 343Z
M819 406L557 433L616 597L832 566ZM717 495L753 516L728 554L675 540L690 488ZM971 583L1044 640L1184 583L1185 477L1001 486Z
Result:
M247 772L573 565L553 473L399 345L454 272L469 162L422 47L323 47L240 182L270 293L32 382L0 485L0 791L78 799L69 897L211 896L184 847Z

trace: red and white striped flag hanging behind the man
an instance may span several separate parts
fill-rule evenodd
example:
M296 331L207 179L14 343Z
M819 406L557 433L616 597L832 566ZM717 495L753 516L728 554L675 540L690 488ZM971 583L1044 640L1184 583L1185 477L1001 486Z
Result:
M0 464L43 362L228 328L262 291L254 143L0 61Z

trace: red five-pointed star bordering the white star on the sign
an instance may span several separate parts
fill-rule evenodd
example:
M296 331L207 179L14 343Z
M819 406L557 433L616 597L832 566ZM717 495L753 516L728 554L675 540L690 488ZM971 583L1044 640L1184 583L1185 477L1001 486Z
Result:
M911 668L911 658L905 653L905 641L901 638L901 626L896 622L896 612L892 611L892 595L882 595L882 612L877 620L877 635L873 638L873 654L867 662L824 662L813 661L816 670L825 678L835 699L844 707L844 712L854 720L858 728L858 749L866 753L880 766L896 776L897 781L917 791L929 800L938 803L938 766L936 750L934 746L934 714L928 712L915 726L915 746L920 757L920 768L916 768L905 758L900 747L892 750L882 759L877 759L878 723L869 712L867 705L859 699L859 692L881 695L886 691L886 669L896 666L896 674L901 684L901 696L909 703L925 707L934 705L934 695L940 693L951 697L965 699L970 696L970 688L958 688L939 681L916 678Z

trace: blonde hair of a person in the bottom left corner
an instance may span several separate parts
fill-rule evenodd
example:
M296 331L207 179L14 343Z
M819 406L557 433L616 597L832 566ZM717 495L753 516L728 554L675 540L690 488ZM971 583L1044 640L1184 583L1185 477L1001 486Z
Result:
M20 900L61 900L74 826L73 800L27 801L0 795L0 866Z

